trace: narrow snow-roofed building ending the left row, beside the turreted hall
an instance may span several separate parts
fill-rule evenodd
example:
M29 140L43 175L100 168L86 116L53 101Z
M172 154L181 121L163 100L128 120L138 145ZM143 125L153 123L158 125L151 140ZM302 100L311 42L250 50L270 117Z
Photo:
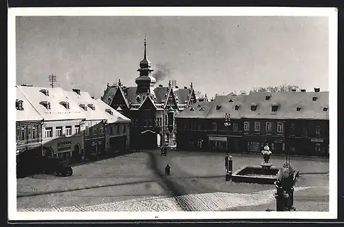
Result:
M97 105L106 115L105 149L109 154L129 151L131 120L97 99Z

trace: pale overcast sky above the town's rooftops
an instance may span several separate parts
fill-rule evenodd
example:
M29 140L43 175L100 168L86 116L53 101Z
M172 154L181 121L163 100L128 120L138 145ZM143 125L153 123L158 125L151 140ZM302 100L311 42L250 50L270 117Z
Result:
M17 17L17 85L80 88L102 96L135 86L147 34L153 69L209 97L253 87L328 91L327 17Z

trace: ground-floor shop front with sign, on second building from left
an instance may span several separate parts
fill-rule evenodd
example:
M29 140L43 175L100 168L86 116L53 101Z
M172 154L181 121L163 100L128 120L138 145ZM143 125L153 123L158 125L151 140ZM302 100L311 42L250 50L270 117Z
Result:
M83 137L61 137L43 142L43 155L60 158L62 162L74 162L83 156Z

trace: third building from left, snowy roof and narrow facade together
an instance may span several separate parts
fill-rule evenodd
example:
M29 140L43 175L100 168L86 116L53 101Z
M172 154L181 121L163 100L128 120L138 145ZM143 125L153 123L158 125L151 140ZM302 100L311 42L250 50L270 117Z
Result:
M67 94L85 115L83 122L83 157L89 159L105 155L105 123L107 116L98 107L96 99L92 98L87 92L73 89L73 91L67 91Z

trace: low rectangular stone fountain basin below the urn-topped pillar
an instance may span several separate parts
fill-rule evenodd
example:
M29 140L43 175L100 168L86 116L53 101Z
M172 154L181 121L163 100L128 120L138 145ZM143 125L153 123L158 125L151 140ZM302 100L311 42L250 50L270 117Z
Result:
M277 166L241 166L232 174L233 182L245 182L256 184L274 184L277 180Z

